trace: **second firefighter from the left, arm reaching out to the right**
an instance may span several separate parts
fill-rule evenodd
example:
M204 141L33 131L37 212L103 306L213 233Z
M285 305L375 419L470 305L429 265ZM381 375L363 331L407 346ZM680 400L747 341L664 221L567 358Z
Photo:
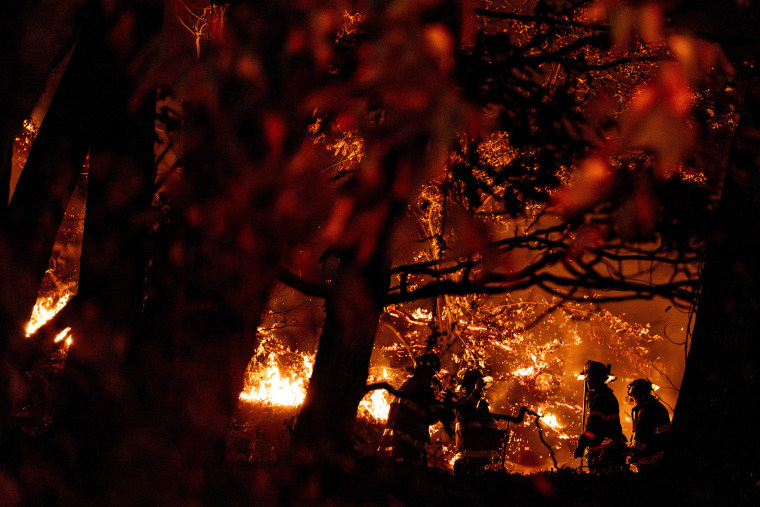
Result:
M457 388L459 398L456 415L456 456L454 475L477 475L498 457L499 445L505 432L496 426L496 418L521 422L527 410L523 407L519 417L492 414L483 397L486 386L483 373L472 368L464 372Z

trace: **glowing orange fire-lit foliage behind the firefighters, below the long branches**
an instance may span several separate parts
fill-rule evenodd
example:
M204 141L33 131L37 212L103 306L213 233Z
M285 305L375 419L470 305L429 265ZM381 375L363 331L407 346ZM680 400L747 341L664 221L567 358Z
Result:
M436 350L443 357L443 385L450 385L461 369L482 368L492 378L486 392L492 410L515 415L526 405L545 416L546 439L560 463L572 466L583 399L583 382L576 375L586 356L613 365L618 381L612 387L621 400L626 432L630 418L623 404L625 385L639 377L664 379L672 372L659 355L663 338L652 334L648 326L627 322L591 303L564 304L547 315L553 303L512 297L450 298L440 319L453 322L453 327L440 337ZM384 319L403 333L407 346L376 350L376 367L407 364L410 349L425 350L425 328L433 324L432 314L415 312L388 309ZM504 456L512 469L552 466L531 422L510 425L512 440Z

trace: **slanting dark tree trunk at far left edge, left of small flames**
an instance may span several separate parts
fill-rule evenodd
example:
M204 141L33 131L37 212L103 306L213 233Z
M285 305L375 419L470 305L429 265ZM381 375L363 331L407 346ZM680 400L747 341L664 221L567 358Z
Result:
M102 39L92 33L80 39L0 224L2 241L8 249L0 265L2 307L16 334L31 314L89 149L99 107L96 97L107 93L102 89L103 62L107 58L102 45Z

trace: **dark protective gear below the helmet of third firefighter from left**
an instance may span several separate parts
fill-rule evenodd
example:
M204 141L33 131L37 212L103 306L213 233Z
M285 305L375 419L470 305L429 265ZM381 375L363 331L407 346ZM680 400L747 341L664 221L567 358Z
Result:
M588 418L578 447L588 447L589 469L605 471L622 467L628 450L627 439L620 426L620 406L606 384L591 391Z

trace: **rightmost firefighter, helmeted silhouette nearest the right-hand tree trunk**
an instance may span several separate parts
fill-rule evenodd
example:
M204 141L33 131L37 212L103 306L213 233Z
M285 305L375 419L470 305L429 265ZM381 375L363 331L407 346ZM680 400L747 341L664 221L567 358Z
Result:
M633 435L629 462L640 472L656 469L665 454L670 431L670 414L654 396L652 383L636 379L628 384L628 399L635 403L631 411Z

